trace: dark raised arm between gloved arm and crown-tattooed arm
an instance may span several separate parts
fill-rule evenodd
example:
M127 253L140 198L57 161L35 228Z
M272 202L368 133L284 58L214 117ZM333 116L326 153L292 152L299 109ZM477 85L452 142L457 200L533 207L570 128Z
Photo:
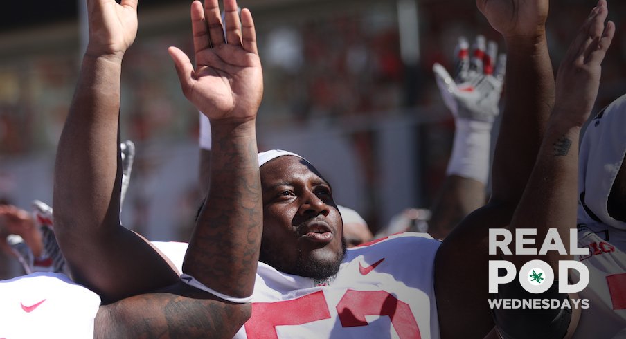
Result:
M488 276L488 229L509 225L535 165L554 98L544 30L548 1L479 0L477 4L506 41L506 106L494 154L490 202L463 219L436 257L442 338L482 338L493 327L487 281L475 277Z

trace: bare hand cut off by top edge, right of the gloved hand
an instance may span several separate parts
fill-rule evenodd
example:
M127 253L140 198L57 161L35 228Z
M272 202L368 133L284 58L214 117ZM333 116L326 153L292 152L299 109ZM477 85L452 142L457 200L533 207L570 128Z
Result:
M476 6L503 37L544 33L548 0L476 0Z

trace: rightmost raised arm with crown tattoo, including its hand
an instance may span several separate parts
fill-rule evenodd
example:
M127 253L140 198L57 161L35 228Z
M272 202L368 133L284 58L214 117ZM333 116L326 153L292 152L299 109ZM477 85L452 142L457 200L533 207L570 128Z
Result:
M569 238L570 231L575 230L576 225L578 140L582 125L589 118L596 101L601 63L615 32L615 26L610 21L605 28L607 14L607 2L600 0L582 24L578 36L561 63L557 74L555 107L548 120L537 163L510 225L512 231L516 228L535 228L537 244L544 244L548 229L557 230L566 254L556 250L532 257L502 253L502 259L515 264L518 270L529 259L539 259L547 262L553 272L557 273L560 260L573 259ZM510 247L514 246L515 237ZM500 286L499 297L543 297L557 300L567 298L565 293L557 292L555 285L556 282L551 290L541 295L526 292L519 294L521 292L516 287L519 283L514 280L511 284ZM501 334L506 333L505 338L530 337L537 329L541 329L547 337L563 338L564 333L573 333L577 322L575 315L569 314L571 309L558 311L558 314L532 315L497 313L495 320L498 331ZM522 325L528 323L532 323L533 328Z

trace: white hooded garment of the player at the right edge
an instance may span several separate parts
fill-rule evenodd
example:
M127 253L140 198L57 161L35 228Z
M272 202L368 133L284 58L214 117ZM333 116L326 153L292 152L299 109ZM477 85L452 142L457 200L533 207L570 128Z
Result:
M626 154L625 126L623 95L591 120L580 145L578 247L590 254L578 257L589 268L589 285L578 294L590 307L582 310L576 339L626 338L626 223L607 210Z

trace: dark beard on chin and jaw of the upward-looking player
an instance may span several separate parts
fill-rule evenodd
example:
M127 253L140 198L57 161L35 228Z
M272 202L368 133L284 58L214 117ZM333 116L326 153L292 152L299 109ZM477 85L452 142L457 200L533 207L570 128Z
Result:
M341 251L330 259L314 259L310 253L305 253L298 248L296 261L288 264L288 261L275 250L276 246L264 246L261 244L259 260L265 262L269 266L276 268L278 271L287 274L299 275L301 277L310 277L315 280L328 280L339 272L339 266L343 262L346 255L346 239L341 237Z

